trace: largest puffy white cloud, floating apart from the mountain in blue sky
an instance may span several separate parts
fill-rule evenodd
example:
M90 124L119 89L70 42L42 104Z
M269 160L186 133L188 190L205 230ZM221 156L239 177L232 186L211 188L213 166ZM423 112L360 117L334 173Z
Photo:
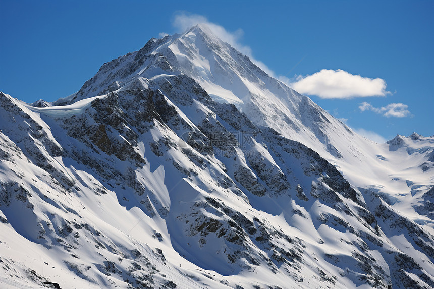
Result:
M290 84L299 93L321 98L386 96L386 81L353 75L344 70L322 69L312 75L298 76Z

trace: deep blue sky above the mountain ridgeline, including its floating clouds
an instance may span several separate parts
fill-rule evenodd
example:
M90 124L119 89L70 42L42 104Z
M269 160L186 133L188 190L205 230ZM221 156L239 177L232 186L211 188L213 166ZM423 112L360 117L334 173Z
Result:
M434 1L0 0L0 10L0 90L26 102L78 91L104 62L182 32L181 16L220 25L362 135L434 135Z

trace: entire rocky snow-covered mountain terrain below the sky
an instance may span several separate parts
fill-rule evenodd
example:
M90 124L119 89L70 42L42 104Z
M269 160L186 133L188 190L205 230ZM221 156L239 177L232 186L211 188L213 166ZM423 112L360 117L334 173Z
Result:
M3 287L434 287L434 136L367 140L204 25L0 119Z

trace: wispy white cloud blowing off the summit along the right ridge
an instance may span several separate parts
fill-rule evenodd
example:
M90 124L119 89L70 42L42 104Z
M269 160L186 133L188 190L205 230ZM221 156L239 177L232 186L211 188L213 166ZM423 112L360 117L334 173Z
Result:
M237 29L234 32L227 31L223 26L209 22L205 16L198 14L189 14L186 12L181 12L175 15L173 20L173 26L184 32L188 28L196 24L205 24L209 29L219 37L221 40L229 43L231 46L236 48L238 51L248 56L250 60L256 64L259 68L265 71L268 75L275 77L275 73L270 70L263 62L254 59L252 49L249 46L240 43L244 31L242 29Z

